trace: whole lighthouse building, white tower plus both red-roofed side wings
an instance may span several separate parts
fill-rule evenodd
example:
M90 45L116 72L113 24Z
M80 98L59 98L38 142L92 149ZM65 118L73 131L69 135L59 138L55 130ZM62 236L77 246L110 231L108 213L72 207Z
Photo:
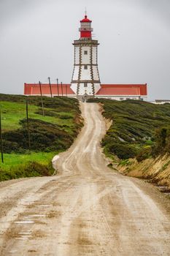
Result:
M72 82L61 84L24 83L25 95L74 97L84 102L89 98L142 99L147 100L147 83L144 84L101 84L98 74L98 40L92 39L92 21L80 20L80 39L74 40L74 69Z

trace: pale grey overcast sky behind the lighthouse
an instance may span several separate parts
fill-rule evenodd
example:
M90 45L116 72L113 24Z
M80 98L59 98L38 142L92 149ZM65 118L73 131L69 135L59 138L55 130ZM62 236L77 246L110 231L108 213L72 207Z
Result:
M101 83L148 83L149 99L170 99L169 0L0 0L0 92L70 83L85 6Z

